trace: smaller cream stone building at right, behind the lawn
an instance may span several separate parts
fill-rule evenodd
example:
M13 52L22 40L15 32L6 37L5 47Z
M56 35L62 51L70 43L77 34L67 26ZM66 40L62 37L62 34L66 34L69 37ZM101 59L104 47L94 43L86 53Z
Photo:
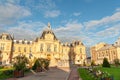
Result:
M113 63L115 59L120 59L120 46L116 44L99 43L92 46L91 60L95 64L102 64L103 59L107 58L110 63Z

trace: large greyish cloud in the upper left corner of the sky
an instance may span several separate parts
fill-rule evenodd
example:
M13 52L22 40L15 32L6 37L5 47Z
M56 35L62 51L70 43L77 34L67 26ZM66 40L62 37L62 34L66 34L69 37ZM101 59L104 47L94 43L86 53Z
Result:
M0 25L7 25L16 22L17 20L30 16L31 12L24 7L6 3L0 5Z

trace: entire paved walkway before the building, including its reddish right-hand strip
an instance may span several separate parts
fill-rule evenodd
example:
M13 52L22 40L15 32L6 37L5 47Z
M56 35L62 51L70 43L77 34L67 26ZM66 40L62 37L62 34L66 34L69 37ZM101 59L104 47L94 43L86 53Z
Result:
M28 73L22 78L10 78L7 80L81 80L77 74L77 68L50 68L46 72L37 74Z

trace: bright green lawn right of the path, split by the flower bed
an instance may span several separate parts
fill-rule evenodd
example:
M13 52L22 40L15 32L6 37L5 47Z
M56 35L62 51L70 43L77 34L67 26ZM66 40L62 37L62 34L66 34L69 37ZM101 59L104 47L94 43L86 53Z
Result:
M114 76L114 80L120 80L120 67L111 67L111 68L97 67L97 69L103 72L110 73L110 75ZM86 69L79 68L78 72L83 80L95 80L93 76Z

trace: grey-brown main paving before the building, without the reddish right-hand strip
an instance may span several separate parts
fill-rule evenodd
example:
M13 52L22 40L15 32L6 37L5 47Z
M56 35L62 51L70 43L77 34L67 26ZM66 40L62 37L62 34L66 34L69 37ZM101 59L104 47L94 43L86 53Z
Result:
M50 68L46 72L38 72L37 74L31 72L22 78L11 78L7 80L67 80L68 75L68 68Z

